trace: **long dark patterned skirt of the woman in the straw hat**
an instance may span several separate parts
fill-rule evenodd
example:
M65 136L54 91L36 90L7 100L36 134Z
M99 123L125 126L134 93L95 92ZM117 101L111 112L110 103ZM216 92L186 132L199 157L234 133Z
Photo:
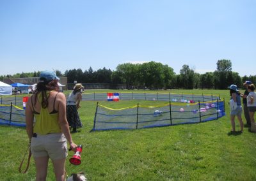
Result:
M67 105L67 120L68 125L72 128L79 128L83 126L77 112L76 105Z

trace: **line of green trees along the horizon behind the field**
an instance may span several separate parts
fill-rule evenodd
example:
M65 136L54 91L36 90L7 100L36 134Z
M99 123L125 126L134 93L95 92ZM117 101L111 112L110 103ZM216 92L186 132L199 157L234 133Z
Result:
M34 73L17 73L4 77L38 77L39 71ZM116 84L125 84L127 89L227 89L234 83L237 87L243 87L245 80L256 81L256 75L239 76L232 71L232 62L221 59L216 63L214 72L204 74L195 73L195 70L184 64L179 74L176 74L168 65L160 62L145 62L143 64L124 63L118 64L115 71L111 69L98 69L93 71L79 69L66 70L65 73L56 70L57 76L67 76L68 83L74 81L82 83L109 83L115 87Z

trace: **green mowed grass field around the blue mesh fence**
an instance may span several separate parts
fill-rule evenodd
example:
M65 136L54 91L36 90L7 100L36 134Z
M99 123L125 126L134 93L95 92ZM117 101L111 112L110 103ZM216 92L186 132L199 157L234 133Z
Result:
M70 152L66 166L68 175L84 171L88 180L256 180L256 134L248 132L247 127L242 134L228 134L231 129L229 91L171 92L220 94L226 100L226 116L200 124L90 133L97 101L83 101L79 113L84 127L80 133L72 134L75 143L83 145L82 163L70 165L68 159L73 155ZM122 108L136 103L150 105L153 101L100 103ZM246 122L244 117L243 122ZM237 119L236 128L238 131ZM33 159L26 174L18 171L28 147L25 129L10 126L0 126L0 129L0 180L35 180ZM51 164L47 180L54 180Z

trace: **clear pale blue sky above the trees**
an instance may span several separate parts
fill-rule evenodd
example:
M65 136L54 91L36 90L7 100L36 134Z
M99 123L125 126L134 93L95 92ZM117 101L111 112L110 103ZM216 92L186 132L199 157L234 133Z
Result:
M256 1L0 1L0 75L156 61L179 74L232 61L256 75Z

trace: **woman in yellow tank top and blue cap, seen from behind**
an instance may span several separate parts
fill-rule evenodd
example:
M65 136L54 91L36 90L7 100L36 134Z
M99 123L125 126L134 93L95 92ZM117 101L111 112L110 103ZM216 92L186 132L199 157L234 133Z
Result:
M46 180L49 158L56 180L65 180L67 141L74 152L77 148L68 127L65 95L58 92L58 80L54 72L42 71L35 94L26 105L26 131L35 159L36 180Z

